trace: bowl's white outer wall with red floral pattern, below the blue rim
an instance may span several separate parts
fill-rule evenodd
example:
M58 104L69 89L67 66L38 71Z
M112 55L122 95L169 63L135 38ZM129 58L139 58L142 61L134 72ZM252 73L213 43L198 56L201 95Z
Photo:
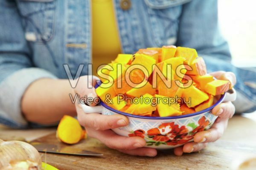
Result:
M103 107L103 115L118 114ZM150 118L150 117L148 117ZM218 118L211 113L202 112L184 118L145 119L128 116L129 125L113 129L122 136L139 136L144 138L146 147L156 149L172 149L193 141L196 133L209 129Z

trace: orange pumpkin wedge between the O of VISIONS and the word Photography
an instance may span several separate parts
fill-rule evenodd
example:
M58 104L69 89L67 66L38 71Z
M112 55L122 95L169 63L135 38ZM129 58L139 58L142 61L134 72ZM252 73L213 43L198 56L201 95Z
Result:
M150 95L154 95L156 93L156 89L152 88L152 85L150 83L146 83L145 86L133 89L130 89L128 92L126 92L127 95L133 96L133 97L140 97L141 95L145 95L146 93Z

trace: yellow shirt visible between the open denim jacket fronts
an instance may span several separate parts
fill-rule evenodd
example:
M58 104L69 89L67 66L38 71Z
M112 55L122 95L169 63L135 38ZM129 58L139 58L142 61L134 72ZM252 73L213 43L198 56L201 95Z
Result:
M91 0L93 24L93 75L98 66L111 63L121 53L112 0Z

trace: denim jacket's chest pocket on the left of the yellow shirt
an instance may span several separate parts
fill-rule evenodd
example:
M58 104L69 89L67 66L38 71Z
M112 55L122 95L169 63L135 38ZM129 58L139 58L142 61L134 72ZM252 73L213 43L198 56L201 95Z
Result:
M47 42L54 34L55 0L17 0L26 40Z

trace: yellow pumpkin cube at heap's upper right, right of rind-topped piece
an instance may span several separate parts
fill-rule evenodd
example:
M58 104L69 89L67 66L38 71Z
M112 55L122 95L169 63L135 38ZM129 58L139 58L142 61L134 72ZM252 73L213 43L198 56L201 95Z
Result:
M193 61L195 61L195 58L198 57L198 54L195 49L178 46L175 52L175 57L185 58L186 63L190 65L193 63Z

